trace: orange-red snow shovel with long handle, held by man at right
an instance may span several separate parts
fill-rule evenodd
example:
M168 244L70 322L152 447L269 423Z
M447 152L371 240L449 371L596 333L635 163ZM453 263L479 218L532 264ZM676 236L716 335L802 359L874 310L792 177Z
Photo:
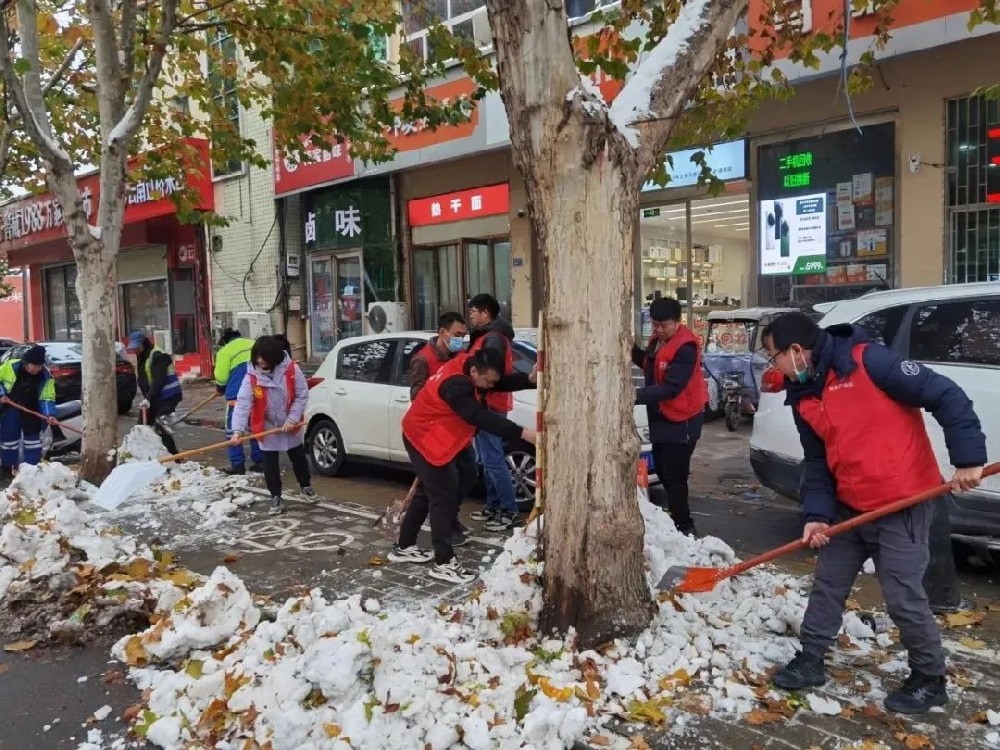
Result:
M995 474L1000 474L1000 463L990 464L983 469L983 479L991 477ZM867 513L862 513L854 516L853 518L849 518L842 523L834 524L823 533L828 537L843 534L845 531L856 529L858 526L863 526L866 523L877 521L883 516L898 513L901 510L906 510L907 508L918 505L919 503L944 495L950 490L950 484L938 485L937 487L929 489L925 492L921 492L919 495L897 500L896 502L889 503L882 508L877 508L876 510L871 510ZM711 591L717 584L727 578L732 578L740 573L745 573L751 568L756 568L758 565L771 562L771 560L783 555L798 552L808 546L808 542L796 539L794 542L789 542L788 544L778 547L777 549L773 549L770 552L765 552L762 555L751 557L749 560L744 560L743 562L737 563L736 565L728 568L688 568L683 565L675 565L664 573L663 578L660 579L656 588L661 591L672 590L679 594L702 594L706 591Z

